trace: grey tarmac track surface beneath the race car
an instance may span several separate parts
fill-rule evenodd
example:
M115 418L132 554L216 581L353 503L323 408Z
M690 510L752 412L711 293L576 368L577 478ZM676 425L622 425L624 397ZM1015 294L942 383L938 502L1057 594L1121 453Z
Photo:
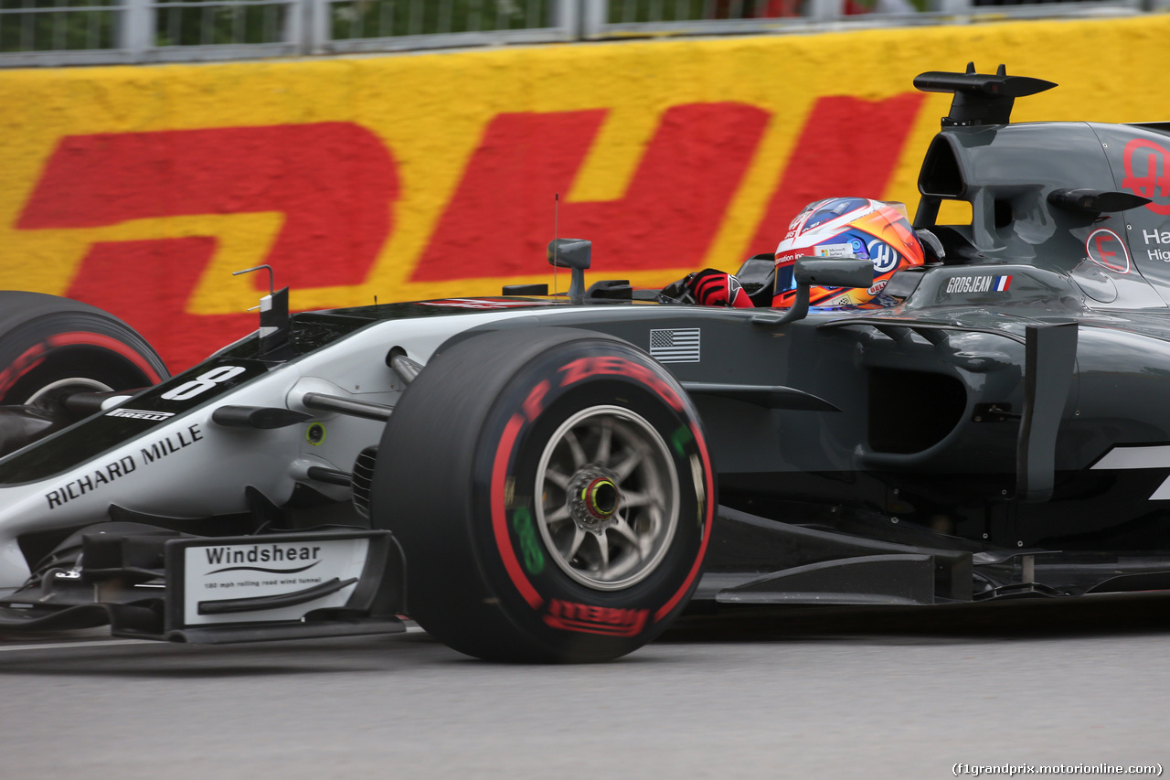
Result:
M1170 597L695 617L571 666L474 661L418 628L211 648L88 631L0 639L0 692L7 779L1170 768Z

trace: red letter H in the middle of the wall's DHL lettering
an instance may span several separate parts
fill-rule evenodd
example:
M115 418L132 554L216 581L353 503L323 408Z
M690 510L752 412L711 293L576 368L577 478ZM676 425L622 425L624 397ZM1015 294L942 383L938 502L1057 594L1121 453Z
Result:
M488 125L413 281L532 273L549 241L552 193L567 192L606 109L501 114ZM741 103L662 115L619 200L567 203L562 235L593 241L600 269L698 267L756 151L768 112ZM701 170L702 185L695 185ZM476 265L467 264L475 237Z

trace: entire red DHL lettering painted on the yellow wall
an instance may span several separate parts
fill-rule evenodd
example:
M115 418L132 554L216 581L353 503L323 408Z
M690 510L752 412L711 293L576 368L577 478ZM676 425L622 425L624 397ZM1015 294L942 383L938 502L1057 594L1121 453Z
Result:
M820 98L772 193L762 193L770 201L752 251L775 248L792 214L840 194L842 182L849 191L885 191L922 100L917 93L876 102ZM496 115L429 239L418 254L392 261L413 266L408 282L530 275L549 238L549 196L571 190L606 116L607 109ZM866 134L853 131L858 116L867 118ZM603 271L700 267L768 123L785 119L732 102L667 109L625 194L563 198L562 234L593 240ZM57 144L14 227L280 213L273 245L256 261L273 265L294 290L344 289L363 283L378 262L399 193L391 150L347 122L78 135ZM181 370L255 328L254 315L192 312L195 290L212 285L204 276L220 248L211 234L97 240L64 294L122 316Z

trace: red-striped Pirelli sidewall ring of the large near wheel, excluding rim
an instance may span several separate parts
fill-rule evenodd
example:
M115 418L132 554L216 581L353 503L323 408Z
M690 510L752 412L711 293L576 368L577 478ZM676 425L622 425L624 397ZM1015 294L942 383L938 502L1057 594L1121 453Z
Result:
M648 422L677 478L674 538L655 568L629 587L599 590L565 574L539 529L537 464L573 413L620 406ZM632 345L569 342L529 362L497 396L473 458L470 529L500 607L562 657L613 657L660 634L698 582L715 506L714 470L702 427L677 381Z

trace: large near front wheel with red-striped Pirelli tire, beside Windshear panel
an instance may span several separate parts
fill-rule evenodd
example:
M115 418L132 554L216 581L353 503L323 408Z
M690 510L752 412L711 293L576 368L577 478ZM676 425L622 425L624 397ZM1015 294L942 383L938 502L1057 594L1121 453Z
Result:
M682 610L714 506L674 377L627 342L545 328L431 361L386 426L371 511L433 636L494 661L592 662Z

